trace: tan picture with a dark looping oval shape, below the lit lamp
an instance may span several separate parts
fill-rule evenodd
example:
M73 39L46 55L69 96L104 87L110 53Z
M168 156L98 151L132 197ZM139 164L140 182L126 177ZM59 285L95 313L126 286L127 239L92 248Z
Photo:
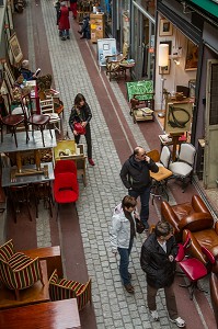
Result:
M190 132L193 103L190 102L176 102L168 103L165 109L164 131L165 134L175 134Z

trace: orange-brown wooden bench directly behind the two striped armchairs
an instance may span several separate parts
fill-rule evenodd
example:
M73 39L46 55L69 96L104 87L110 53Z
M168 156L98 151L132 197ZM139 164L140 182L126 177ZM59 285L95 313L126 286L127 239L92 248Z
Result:
M55 269L58 271L58 276L62 277L62 262L59 246L22 250L22 252L33 259L38 257L39 260L46 260L48 279Z

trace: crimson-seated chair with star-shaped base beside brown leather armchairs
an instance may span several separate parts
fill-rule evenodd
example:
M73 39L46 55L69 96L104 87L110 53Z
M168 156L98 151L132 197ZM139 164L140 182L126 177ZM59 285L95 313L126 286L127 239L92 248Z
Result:
M186 258L185 257L186 248L187 246L190 248L190 240L191 238L187 235L184 245L181 245L180 252L176 257L176 262L179 263L181 270L190 281L188 284L186 285L180 284L180 286L190 287L190 299L192 300L194 290L197 288L198 291L205 292L203 288L198 286L198 280L205 277L211 271L211 266L215 263L215 257L207 248L202 247L202 252L206 256L206 260L207 260L206 264L203 264L196 258Z

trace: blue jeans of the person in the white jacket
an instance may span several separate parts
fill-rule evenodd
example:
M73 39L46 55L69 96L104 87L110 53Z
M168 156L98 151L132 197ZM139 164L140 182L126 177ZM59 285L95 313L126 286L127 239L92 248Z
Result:
M129 241L128 249L117 248L118 253L121 256L119 274L121 274L122 282L124 285L130 284L130 279L129 279L129 274L128 274L128 264L129 264L129 256L131 252L133 243L134 243L134 239Z

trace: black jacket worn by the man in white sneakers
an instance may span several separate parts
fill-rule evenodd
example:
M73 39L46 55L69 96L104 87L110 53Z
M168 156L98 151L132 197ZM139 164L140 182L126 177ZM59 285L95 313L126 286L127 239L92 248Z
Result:
M147 283L156 288L170 286L174 281L175 261L170 262L169 256L176 257L177 243L171 237L167 241L167 253L151 234L141 247L141 269L147 274Z

